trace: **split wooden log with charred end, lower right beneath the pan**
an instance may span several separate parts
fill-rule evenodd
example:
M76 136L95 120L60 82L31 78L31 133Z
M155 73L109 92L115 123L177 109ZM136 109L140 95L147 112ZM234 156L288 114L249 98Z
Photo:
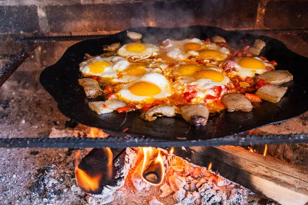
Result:
M207 167L281 204L308 202L308 169L240 147L191 147L190 162Z

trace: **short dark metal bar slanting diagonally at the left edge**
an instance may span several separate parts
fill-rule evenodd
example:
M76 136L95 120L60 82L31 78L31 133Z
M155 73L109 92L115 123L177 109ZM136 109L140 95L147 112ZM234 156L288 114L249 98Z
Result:
M22 63L30 56L36 47L36 44L30 42L10 61L8 61L8 63L0 70L0 87L17 70L17 68L22 65Z

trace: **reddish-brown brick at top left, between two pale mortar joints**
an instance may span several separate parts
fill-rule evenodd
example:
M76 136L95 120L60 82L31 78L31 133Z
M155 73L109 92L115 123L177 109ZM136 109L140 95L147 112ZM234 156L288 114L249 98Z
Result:
M47 6L46 11L54 33L124 30L147 19L144 3Z

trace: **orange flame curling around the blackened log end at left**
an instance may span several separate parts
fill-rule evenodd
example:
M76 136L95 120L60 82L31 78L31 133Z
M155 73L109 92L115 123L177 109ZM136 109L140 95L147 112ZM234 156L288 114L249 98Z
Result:
M107 177L112 178L112 167L113 167L113 154L110 148L104 148L107 154L108 164L107 164ZM90 176L87 172L78 167L78 159L80 157L80 151L76 153L75 160L75 178L78 187L86 193L92 193L98 191L100 187L100 181L104 173L97 176Z

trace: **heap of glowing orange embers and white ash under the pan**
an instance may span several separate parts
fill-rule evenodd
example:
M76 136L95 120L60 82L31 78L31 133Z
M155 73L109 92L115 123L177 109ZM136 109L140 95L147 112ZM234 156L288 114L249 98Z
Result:
M131 150L138 152L140 149ZM122 172L122 176L126 174L124 186L122 181L121 186L114 187L105 196L90 195L89 204L278 204L204 167L168 154L166 150L163 150L165 176L161 185L154 186L142 177L143 152L134 156L136 164L127 162L132 168L129 172Z

